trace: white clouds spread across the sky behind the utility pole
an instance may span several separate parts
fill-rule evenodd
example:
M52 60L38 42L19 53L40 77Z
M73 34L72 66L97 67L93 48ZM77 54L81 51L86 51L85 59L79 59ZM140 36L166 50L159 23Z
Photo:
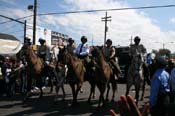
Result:
M129 7L129 5L121 4L118 0L65 0L63 8L66 6L69 8L66 11ZM32 14L27 10L5 10L8 11L6 15L12 17ZM2 14L3 11L0 13ZM169 43L173 41L175 32L163 32L158 26L154 25L157 19L150 18L145 12L137 10L109 11L108 15L112 16L112 21L108 22L107 38L111 38L114 45L127 46L130 44L131 36L139 35L142 39L141 43L145 45L148 51L162 48L163 43L167 44L165 47L174 51L173 45ZM50 25L58 29L54 31L64 31L72 36L77 43L79 43L82 35L86 35L89 38L89 44L91 44L93 36L94 44L102 45L104 42L104 22L101 21L101 17L104 16L105 12L40 16L37 23L42 26L46 25L47 28L50 28ZM175 19L172 18L171 21L175 22ZM32 22L32 19L29 22Z

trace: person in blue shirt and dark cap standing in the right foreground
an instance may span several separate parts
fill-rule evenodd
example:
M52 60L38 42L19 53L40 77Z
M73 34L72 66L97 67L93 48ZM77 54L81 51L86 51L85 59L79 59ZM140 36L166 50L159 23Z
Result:
M157 70L151 79L150 111L151 116L167 116L169 104L170 75L165 70L167 61L163 57L156 58Z

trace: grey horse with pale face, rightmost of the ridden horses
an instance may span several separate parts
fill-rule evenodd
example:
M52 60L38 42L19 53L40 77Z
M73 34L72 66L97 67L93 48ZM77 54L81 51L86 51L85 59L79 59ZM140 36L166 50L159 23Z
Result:
M128 68L127 79L126 79L126 96L129 94L130 87L135 86L135 100L136 104L139 101L139 90L142 87L142 98L144 97L145 82L144 82L144 70L143 70L143 57L141 54L134 55L131 64Z

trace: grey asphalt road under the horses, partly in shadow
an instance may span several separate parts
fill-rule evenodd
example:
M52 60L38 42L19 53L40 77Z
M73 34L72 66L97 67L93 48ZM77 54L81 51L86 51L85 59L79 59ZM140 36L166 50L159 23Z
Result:
M99 91L96 89L96 97L92 99L91 105L87 103L89 96L90 86L88 82L83 85L83 93L79 93L79 104L76 107L71 106L72 93L69 85L65 84L66 100L61 100L62 91L59 92L60 100L54 102L55 93L49 94L49 88L44 90L44 97L38 98L38 91L34 92L30 99L23 103L22 96L17 94L11 98L6 96L0 97L0 116L109 116L111 108L117 110L117 105L114 102L108 102L107 105L96 110L98 103ZM126 91L125 84L118 84L118 92L116 93L115 100L118 100L120 95L124 95ZM110 91L111 93L111 91ZM131 88L130 95L134 96L133 87ZM111 94L110 94L111 95ZM144 102L148 101L149 87L146 86L144 101L139 102L141 108ZM111 98L111 96L110 96Z

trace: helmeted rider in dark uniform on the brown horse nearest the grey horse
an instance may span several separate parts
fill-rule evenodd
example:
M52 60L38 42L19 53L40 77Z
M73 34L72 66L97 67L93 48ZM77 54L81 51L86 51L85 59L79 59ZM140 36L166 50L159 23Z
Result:
M116 51L115 51L115 48L112 46L111 39L108 39L106 41L106 46L102 48L102 51L106 58L106 61L110 63L114 73L116 74L116 76L118 76L118 74L121 73L121 70L118 62L116 61L116 57L115 57Z

